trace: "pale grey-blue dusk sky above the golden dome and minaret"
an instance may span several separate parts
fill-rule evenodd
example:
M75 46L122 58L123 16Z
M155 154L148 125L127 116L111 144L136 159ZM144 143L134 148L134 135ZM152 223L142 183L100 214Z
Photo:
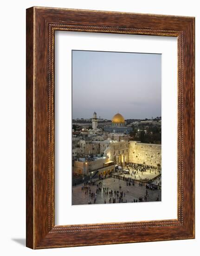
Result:
M161 54L72 51L72 118L161 116Z

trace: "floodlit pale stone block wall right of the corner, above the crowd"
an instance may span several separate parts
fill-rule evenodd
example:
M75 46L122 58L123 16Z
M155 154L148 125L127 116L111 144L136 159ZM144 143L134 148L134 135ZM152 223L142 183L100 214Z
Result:
M129 162L161 166L161 145L129 141Z

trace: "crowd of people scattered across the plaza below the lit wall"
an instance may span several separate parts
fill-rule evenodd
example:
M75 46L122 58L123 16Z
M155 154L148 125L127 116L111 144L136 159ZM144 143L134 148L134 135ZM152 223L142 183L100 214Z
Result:
M129 172L129 175L127 174ZM149 180L145 181L144 179L140 178L140 175L143 175L144 172L154 172L156 177L155 181ZM98 196L101 196L104 203L124 203L124 202L148 202L149 197L149 190L159 190L161 189L161 168L148 166L145 164L137 164L137 163L128 163L125 166L116 166L115 172L110 172L106 174L98 173L99 179L90 179L89 181L85 181L81 187L82 193L88 197L89 201L88 204L96 203ZM137 175L137 179L136 179ZM118 189L113 189L109 187L103 186L103 179L106 178L114 178L114 182L119 183ZM122 182L120 182L122 181ZM126 183L124 183L126 182ZM123 189L122 185L123 183ZM124 185L126 184L126 189ZM130 196L127 197L126 195L129 194L130 191L133 191L132 186L140 186L144 187L144 195L143 196L133 196L130 200ZM114 186L116 188L116 186ZM146 191L146 192L145 192ZM72 191L73 193L73 191ZM99 195L100 194L100 195ZM129 199L128 199L129 198ZM128 199L128 201L127 201ZM98 200L99 201L99 200ZM160 201L159 193L158 196L155 198L155 201ZM102 200L101 200L102 202ZM102 202L103 203L103 202Z

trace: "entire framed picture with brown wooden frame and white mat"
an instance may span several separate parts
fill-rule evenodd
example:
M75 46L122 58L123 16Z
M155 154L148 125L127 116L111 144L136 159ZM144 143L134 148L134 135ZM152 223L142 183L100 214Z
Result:
M194 238L194 17L26 10L26 246Z

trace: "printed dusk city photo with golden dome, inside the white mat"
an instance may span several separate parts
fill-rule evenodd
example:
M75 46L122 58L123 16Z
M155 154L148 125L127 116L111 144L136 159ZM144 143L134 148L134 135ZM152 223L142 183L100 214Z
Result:
M72 50L72 205L160 201L161 54Z

